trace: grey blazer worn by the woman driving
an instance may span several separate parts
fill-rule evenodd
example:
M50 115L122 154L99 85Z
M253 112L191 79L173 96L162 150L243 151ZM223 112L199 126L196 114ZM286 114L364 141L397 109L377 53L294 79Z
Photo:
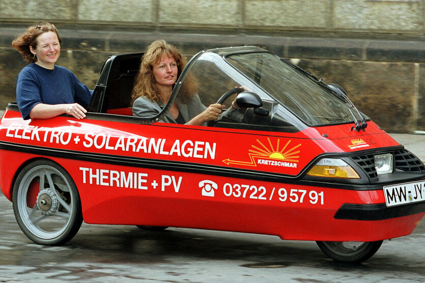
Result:
M183 119L186 121L186 124L193 117L207 109L207 107L202 104L201 99L198 95L193 96L193 98L186 104L180 102L177 98L177 104L179 111L183 116ZM164 107L165 103L163 102L161 103L161 105L158 105L158 103L156 103L155 101L151 101L149 98L139 97L133 103L133 116L151 118L161 112ZM173 115L171 115L171 113L169 112L167 112L161 120L158 120L158 122L177 123L176 120L173 118Z

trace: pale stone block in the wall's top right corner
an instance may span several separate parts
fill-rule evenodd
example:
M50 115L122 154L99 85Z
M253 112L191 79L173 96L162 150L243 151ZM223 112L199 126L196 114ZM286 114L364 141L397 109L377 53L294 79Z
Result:
M421 0L334 0L333 28L379 32L423 30Z

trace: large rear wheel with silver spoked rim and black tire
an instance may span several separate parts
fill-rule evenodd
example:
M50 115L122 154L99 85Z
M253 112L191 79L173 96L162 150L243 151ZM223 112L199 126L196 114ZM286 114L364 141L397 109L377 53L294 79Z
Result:
M77 188L68 172L54 162L26 165L13 186L12 203L20 229L37 244L64 244L81 227Z

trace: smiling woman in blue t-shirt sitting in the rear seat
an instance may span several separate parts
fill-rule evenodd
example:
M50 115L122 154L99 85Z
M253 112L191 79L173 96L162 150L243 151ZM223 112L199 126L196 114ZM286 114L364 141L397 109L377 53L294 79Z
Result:
M24 119L46 119L69 114L86 117L92 91L68 69L55 66L61 54L58 29L48 22L30 26L12 46L31 64L16 81L16 101Z

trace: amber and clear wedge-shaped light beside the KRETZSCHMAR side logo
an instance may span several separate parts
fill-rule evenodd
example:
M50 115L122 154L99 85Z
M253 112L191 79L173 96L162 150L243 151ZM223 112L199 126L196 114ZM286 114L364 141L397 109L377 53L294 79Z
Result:
M357 172L342 159L324 158L308 171L307 175L328 178L360 179Z

